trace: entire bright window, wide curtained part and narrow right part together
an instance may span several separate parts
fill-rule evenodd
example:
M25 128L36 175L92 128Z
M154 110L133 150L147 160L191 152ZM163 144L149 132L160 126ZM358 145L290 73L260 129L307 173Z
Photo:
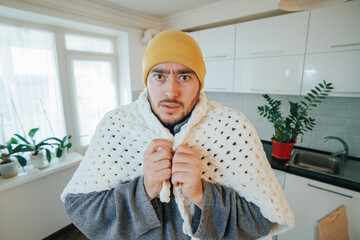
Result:
M37 140L70 134L84 153L118 106L115 38L64 31L0 23L0 143L39 127Z

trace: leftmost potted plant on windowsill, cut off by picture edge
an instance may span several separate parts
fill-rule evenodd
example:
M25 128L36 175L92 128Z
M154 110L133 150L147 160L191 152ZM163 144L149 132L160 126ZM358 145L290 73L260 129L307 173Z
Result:
M22 167L26 166L26 159L24 157L14 155L15 153L20 152L12 147L13 144L17 143L18 141L15 138L11 138L5 145L0 145L0 150L5 151L1 153L0 156L0 173L2 178L11 178L18 174L18 165L16 160Z

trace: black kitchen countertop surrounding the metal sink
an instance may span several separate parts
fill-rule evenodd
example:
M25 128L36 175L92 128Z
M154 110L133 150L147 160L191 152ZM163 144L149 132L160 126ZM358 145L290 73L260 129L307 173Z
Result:
M277 170L291 173L294 175L298 175L301 177L306 177L309 179L317 180L320 182L324 182L324 183L332 184L332 185L335 185L338 187L343 187L346 189L360 192L360 180L359 180L360 172L358 171L359 169L354 170L354 168L352 167L354 165L354 163L356 163L356 165L360 164L360 159L355 158L355 157L348 158L347 162L345 163L345 167L344 167L345 172L346 172L345 176L337 176L337 175L332 175L332 174L318 173L318 172L313 172L313 171L304 170L304 169L300 169L300 168L291 166L289 164L289 160L281 160L281 159L277 159L277 158L273 157L271 155L272 143L270 141L264 141L264 140L262 141L262 143L263 143L264 151L266 153L266 157L273 169L277 169ZM301 149L301 150L306 150L306 151L330 154L327 152L317 151L317 150L298 147L298 146L294 146L294 149Z

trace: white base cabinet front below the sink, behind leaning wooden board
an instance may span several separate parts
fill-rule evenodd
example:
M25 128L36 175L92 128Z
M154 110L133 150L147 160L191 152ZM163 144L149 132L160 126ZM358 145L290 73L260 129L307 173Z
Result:
M279 240L315 240L317 221L341 205L347 208L350 239L360 237L360 193L286 174L285 197L295 215L295 228Z

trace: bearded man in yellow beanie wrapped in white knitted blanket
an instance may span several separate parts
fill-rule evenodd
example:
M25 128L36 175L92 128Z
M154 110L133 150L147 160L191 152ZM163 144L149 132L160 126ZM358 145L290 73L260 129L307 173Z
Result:
M105 115L61 195L88 238L257 239L294 225L255 128L207 101L205 73L186 33L150 41L146 89Z

